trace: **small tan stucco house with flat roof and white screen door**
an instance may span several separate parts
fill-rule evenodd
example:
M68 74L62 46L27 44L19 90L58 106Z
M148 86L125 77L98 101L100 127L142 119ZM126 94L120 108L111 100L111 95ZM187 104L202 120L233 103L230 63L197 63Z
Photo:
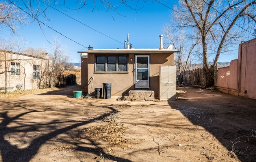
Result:
M102 87L102 83L111 83L111 96L124 96L130 90L145 89L154 91L157 97L160 66L174 66L174 52L178 51L171 46L163 49L162 36L159 49L134 49L129 46L127 42L124 49L89 48L78 52L81 54L81 87L90 87L88 83L93 77L93 91ZM174 75L176 93L176 66Z

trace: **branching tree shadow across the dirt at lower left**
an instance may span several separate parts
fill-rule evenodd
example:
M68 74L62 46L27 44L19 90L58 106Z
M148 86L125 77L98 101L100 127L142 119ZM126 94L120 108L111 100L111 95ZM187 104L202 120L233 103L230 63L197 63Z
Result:
M8 103L4 103L2 106L7 107ZM32 105L26 105L23 106L23 108L26 107L33 107ZM104 118L111 113L115 112L116 110L112 107L108 107L109 112L104 113L103 115L97 116L96 118ZM38 153L39 148L45 144L46 142L49 142L49 140L52 140L52 138L57 137L60 134L63 134L71 129L75 129L80 126L86 126L87 124L90 124L92 122L95 122L96 118L92 118L90 120L85 120L85 121L79 121L79 120L52 120L50 122L45 122L45 123L38 123L38 122L30 122L30 121L25 121L24 116L25 115L36 115L36 113L43 113L44 109L41 111L37 110L32 110L32 109L24 109L23 113L19 113L18 115L8 115L10 110L8 109L5 111L4 108L0 111L0 117L1 117L1 123L0 123L0 151L2 155L2 161L3 162L28 162L32 160L32 158ZM65 111L65 110L63 110ZM68 126L64 126L56 129L56 127L52 130L49 131L49 127L52 127L54 125L59 125L67 123L69 124ZM22 141L22 137L17 137L20 138L22 142L26 144L27 147L20 148L18 145L15 145L11 142L11 135L16 135L18 133L27 133L27 132L33 132L33 131L43 131L47 129L47 131L44 131L39 136L34 136L31 140L31 142L27 142L24 140ZM104 152L100 147L97 147L97 144L91 140L87 139L89 141L89 144L91 146L95 146L95 148L92 147L82 147L78 144L76 144L76 150L77 151L84 151L87 153L93 153L95 156L97 156L98 152L101 151L102 153L108 155L108 153ZM66 141L69 142L70 141ZM111 159L117 160L118 162L130 162L130 160L120 158L120 157L115 157L113 155L109 155Z

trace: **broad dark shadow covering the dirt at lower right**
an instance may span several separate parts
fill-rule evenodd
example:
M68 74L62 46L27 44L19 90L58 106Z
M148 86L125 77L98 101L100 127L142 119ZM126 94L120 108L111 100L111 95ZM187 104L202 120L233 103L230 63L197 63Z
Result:
M204 127L239 160L255 161L256 100L219 91L201 93L196 88L186 90L188 94L193 92L197 95L188 96L191 97L189 101L169 101L169 105L194 125Z

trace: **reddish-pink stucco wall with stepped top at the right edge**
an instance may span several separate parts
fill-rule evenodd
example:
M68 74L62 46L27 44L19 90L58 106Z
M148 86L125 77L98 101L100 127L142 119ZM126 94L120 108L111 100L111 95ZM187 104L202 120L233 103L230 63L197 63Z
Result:
M220 91L256 99L256 38L239 44L238 59L218 68Z

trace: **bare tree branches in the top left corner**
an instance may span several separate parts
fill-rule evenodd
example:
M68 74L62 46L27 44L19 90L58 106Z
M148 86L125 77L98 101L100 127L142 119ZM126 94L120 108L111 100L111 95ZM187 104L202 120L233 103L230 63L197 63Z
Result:
M7 1L0 2L0 28L5 27L16 33L16 24L26 24L27 15L15 4Z

